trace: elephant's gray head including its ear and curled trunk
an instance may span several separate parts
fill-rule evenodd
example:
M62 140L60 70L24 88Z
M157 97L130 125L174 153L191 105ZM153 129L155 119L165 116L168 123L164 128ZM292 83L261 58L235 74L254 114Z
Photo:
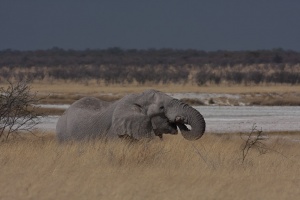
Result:
M204 118L196 109L155 90L124 97L115 107L112 129L116 134L136 139L151 137L152 130L155 130L151 120L157 116L167 118L168 123L178 126L187 140L197 140L205 132Z

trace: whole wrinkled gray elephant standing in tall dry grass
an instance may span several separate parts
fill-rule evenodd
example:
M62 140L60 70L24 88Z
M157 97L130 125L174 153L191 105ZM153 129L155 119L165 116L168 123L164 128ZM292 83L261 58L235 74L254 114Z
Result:
M82 98L59 118L56 133L59 141L118 137L140 140L176 134L176 126L187 140L197 140L205 131L204 118L196 109L162 92L147 90L114 103Z

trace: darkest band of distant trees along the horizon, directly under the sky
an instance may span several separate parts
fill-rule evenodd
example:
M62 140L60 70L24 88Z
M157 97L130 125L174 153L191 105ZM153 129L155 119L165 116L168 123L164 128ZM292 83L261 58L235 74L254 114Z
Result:
M148 49L64 50L54 47L36 51L0 51L0 66L79 66L79 65L250 65L261 63L300 63L300 52L283 49L258 51L213 51Z

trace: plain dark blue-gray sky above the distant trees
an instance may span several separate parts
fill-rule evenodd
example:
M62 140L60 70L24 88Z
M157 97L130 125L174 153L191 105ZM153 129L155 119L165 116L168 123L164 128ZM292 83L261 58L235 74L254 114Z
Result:
M0 50L300 51L299 0L0 0Z

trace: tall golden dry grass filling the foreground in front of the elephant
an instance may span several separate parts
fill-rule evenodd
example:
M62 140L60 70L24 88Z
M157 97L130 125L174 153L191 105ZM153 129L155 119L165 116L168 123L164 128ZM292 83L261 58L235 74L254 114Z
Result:
M299 142L270 139L280 153L253 149L243 164L242 142L206 134L59 144L29 135L0 143L0 199L297 199Z

